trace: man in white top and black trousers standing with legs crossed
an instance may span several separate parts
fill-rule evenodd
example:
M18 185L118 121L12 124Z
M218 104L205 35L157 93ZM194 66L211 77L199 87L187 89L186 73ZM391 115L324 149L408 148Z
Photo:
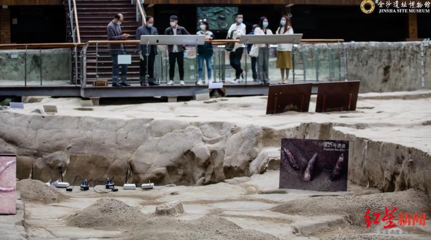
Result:
M245 24L242 23L244 16L241 13L236 14L236 23L233 23L227 31L227 38L232 35L232 39L239 39L242 35L245 35ZM230 65L235 69L235 79L230 81L231 83L240 83L241 77L245 78L245 71L241 68L241 58L244 52L244 46L239 43L235 43L233 50L229 54Z

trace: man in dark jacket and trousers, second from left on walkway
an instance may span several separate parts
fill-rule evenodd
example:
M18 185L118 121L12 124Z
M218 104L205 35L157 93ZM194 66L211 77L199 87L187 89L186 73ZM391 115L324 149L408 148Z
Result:
M141 39L141 35L158 35L157 28L153 27L154 18L152 16L147 16L145 18L146 24L138 27L136 30L136 40ZM158 83L155 82L154 79L154 60L157 55L157 46L148 45L147 53L147 45L137 45L138 54L140 57L140 65L139 65L139 83L141 86L146 86L147 81L150 86L157 86ZM148 54L148 56L147 56ZM147 72L148 65L148 72ZM149 76L146 79L146 76Z

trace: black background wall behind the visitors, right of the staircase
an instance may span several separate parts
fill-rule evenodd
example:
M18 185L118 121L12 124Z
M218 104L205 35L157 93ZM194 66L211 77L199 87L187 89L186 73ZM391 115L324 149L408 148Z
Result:
M197 31L196 6L192 4L168 4L154 6L156 27L163 32L169 26L169 16L178 15L180 25L190 33ZM274 32L285 5L230 5L238 6L244 14L247 33L257 24L259 17L269 19ZM296 33L306 39L344 39L345 41L405 41L409 38L407 14L382 14L374 11L364 14L357 5L293 5L292 25ZM431 14L418 14L418 37L431 37ZM225 38L226 31L216 32L217 38Z

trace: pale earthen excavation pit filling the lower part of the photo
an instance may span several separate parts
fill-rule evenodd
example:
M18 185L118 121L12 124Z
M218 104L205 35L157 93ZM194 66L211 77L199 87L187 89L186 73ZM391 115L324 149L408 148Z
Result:
M94 111L74 110L79 99L70 98L56 115L32 113L59 101L45 99L1 111L0 150L17 155L18 179L27 179L34 164L34 179L59 180L63 165L65 181L78 174L114 177L119 189L57 189L66 196L61 201L33 201L21 193L26 231L35 238L387 239L379 235L386 221L365 226L367 207L383 215L385 206L398 214L431 214L430 93L364 94L356 112L278 115L265 115L262 96ZM350 141L348 191L278 189L282 138ZM150 180L155 188L123 190L127 169L128 183ZM90 209L104 197L117 203L107 209L130 208L136 216L115 219L107 212L103 222L91 219L102 216ZM184 213L154 214L157 205L172 201L181 201ZM83 214L88 220L79 219ZM132 231L136 226L148 228ZM409 238L431 236L428 226L394 230L409 230Z

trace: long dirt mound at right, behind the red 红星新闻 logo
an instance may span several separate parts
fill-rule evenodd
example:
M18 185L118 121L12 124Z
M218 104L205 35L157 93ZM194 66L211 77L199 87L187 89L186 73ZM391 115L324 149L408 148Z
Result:
M325 232L333 232L333 229L349 229L353 233L375 231L379 225L372 224L368 229L365 223L365 213L370 209L370 220L374 221L374 213L380 213L380 220L385 216L385 207L392 212L392 206L397 210L393 213L395 224L403 213L431 213L431 199L423 191L407 190L399 192L376 193L369 195L350 196L318 196L305 199L297 199L278 205L271 211L302 216L332 216L333 221L328 224L316 224L313 228L296 226L297 232L304 236L323 236ZM383 226L386 221L381 221ZM333 226L332 226L333 225ZM378 227L379 229L381 228ZM414 227L410 227L414 228ZM317 231L318 230L318 231ZM358 232L359 231L359 232ZM420 230L418 230L420 231ZM340 237L343 238L343 235Z

